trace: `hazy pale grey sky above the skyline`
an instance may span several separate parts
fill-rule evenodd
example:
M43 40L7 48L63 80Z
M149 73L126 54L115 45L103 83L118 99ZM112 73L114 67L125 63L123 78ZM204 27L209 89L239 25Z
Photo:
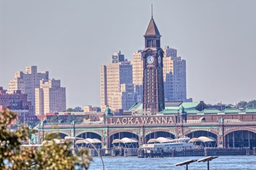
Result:
M35 65L67 107L100 106L100 65L144 48L151 4L161 45L187 62L188 98L256 99L255 0L0 0L0 85Z

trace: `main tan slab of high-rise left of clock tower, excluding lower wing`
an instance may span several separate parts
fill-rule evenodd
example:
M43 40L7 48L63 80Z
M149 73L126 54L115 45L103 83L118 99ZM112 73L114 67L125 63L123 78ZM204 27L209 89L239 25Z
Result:
M100 97L101 110L108 106L112 110L118 109L110 105L111 96L120 92L121 84L132 84L132 65L130 62L109 63L100 66Z

